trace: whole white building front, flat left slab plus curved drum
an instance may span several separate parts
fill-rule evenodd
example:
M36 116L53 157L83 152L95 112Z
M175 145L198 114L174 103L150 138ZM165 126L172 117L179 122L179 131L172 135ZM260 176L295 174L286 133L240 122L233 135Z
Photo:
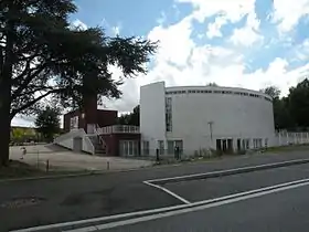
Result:
M152 152L162 146L171 152L175 140L184 152L269 146L275 135L273 102L244 88L153 83L140 91L140 131Z

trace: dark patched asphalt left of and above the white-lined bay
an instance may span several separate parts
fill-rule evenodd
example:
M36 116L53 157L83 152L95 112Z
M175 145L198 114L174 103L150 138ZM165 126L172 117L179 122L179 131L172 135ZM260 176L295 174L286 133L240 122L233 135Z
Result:
M148 187L142 181L298 158L308 158L307 151L237 157L213 162L78 178L0 182L0 219L6 221L6 224L0 223L0 231L175 205L180 203L178 199ZM309 173L302 169L285 173L287 173L285 175L286 178L280 179L280 181L289 180L289 173L294 175L295 178L309 177ZM276 177L281 178L281 175L278 173ZM277 178L274 182L279 181ZM260 177L259 179L260 181L268 181L267 177ZM200 191L193 189L196 186L191 188L192 193ZM28 207L3 207L7 205L8 201L29 197L40 198L41 202ZM192 194L189 198L190 200L195 200L195 198L199 200L204 196L200 198L200 196Z

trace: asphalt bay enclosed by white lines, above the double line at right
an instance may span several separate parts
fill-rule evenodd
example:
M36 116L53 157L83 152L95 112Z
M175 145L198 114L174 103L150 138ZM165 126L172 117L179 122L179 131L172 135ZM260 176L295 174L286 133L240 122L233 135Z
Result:
M309 178L309 164L222 178L168 183L163 187L181 196L189 202L196 202L306 178Z

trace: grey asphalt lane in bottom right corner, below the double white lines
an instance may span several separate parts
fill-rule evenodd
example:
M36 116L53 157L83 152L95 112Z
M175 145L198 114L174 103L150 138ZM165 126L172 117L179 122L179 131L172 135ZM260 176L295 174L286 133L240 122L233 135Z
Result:
M117 226L108 232L307 232L309 187L252 198L173 217Z

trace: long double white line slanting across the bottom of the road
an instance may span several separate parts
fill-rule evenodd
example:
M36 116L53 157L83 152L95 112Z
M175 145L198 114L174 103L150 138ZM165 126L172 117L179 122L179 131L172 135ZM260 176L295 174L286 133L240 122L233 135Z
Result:
M187 204L185 209L180 209L180 210L175 210L175 211L169 211L169 212L163 212L163 213L158 213L158 214L152 214L152 215L146 215L146 217L141 217L141 218L128 219L128 220L118 221L118 222L110 222L110 223L99 224L99 225L95 225L95 226L86 226L86 228L81 228L77 230L67 230L65 232L93 232L93 231L106 230L106 229L111 229L111 228L117 228L117 226L124 226L124 225L128 225L128 224L135 224L135 223L139 223L139 222L146 222L146 221L151 221L151 220L156 220L156 219L162 219L162 218L167 218L167 217L183 214L183 213L188 213L188 212L201 211L201 210L205 210L209 208L221 207L224 204L230 204L230 203L234 203L234 202L238 202L238 201L243 201L243 200L247 200L247 199L252 199L252 198L270 194L274 192L279 192L279 191L284 191L284 190L289 190L289 189L308 186L308 184L309 184L309 179L303 179L303 180L298 180L298 181L294 181L294 182L263 188L263 189L268 189L268 190L258 189L259 191L258 190L248 191L248 192L256 191L255 193L245 194L247 192L243 192L243 196L241 196L241 197L231 198L231 199L226 199L226 200L216 201L216 199L213 199L213 202L207 203L207 204L202 204L202 205L196 205L196 207L189 207ZM196 202L196 203L200 204L201 202ZM191 203L191 205L196 204L196 203Z

